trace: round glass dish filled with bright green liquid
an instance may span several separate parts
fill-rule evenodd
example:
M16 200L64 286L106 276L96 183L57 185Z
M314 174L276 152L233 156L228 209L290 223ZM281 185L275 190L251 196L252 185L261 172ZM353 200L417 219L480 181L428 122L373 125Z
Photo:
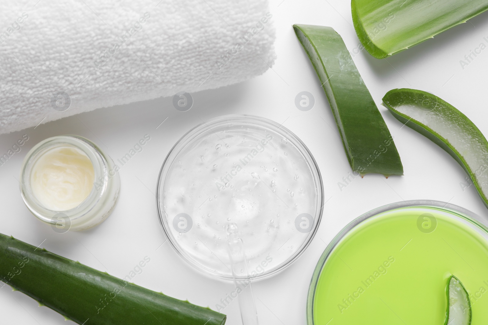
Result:
M307 324L444 324L451 275L468 290L471 324L487 324L484 223L437 201L394 203L360 216L331 241L315 268Z

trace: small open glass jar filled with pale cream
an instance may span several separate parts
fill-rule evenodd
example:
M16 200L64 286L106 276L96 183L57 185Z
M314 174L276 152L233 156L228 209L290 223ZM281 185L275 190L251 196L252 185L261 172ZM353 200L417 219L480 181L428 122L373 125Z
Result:
M119 192L113 160L78 135L41 141L26 154L20 170L25 205L56 232L100 224L112 213Z

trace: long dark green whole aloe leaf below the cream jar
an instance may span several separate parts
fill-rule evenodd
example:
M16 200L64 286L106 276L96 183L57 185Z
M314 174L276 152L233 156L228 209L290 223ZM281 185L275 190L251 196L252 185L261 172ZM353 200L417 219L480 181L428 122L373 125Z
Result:
M223 325L226 316L0 234L1 281L84 325Z

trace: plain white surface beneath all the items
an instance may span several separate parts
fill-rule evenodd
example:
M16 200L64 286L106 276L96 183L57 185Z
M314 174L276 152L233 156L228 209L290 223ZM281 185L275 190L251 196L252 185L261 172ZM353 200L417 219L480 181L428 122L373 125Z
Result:
M314 240L305 253L284 272L254 284L260 324L303 325L306 295L316 262L333 236L348 222L368 210L389 203L432 199L449 201L488 217L474 186L463 191L466 173L446 152L394 119L380 106L392 88L415 88L440 96L465 113L488 134L488 50L463 70L460 60L488 37L488 15L482 14L434 39L386 60L366 51L354 57L363 79L386 120L402 157L405 176L366 175L356 178L343 191L337 183L350 172L343 145L324 91L296 39L292 24L328 25L344 38L350 51L359 45L346 0L271 0L270 12L277 31L278 59L272 70L241 84L194 93L193 108L179 112L171 98L105 108L64 118L13 134L0 136L0 153L6 153L23 134L29 140L0 167L0 232L39 245L90 267L124 277L149 256L151 261L133 281L143 287L191 303L215 305L232 284L207 278L183 262L165 241L155 204L156 180L163 160L188 130L215 116L261 115L297 134L314 155L324 181L325 212ZM218 17L217 17L218 18ZM256 60L260 60L259 57ZM295 96L308 91L315 107L299 111ZM167 120L158 128L158 125ZM149 134L151 140L120 172L122 192L113 214L99 227L85 232L58 234L37 221L25 208L19 193L21 161L37 142L59 134L90 138L114 160L127 153ZM1 263L1 261L0 261ZM241 324L237 301L223 311L228 325ZM58 313L38 307L31 298L0 289L0 323L66 324Z

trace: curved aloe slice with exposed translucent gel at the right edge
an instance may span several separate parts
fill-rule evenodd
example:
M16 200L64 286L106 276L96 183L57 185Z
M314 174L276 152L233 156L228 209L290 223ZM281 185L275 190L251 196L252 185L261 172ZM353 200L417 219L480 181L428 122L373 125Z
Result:
M414 89L383 97L393 116L447 151L469 174L488 207L488 142L471 120L441 98Z

